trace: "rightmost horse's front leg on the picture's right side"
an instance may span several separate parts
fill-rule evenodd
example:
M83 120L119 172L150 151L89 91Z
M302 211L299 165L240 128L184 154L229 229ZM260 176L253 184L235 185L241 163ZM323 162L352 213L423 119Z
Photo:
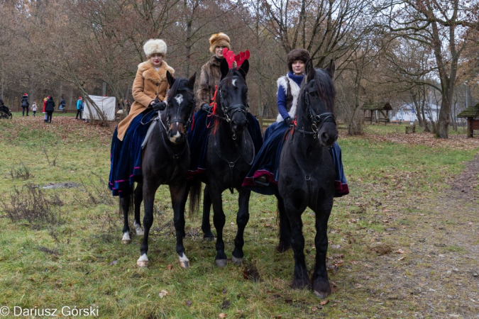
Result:
M331 293L326 269L326 252L328 250L328 220L333 207L333 198L331 197L327 203L322 203L319 207L321 209L314 211L316 213L316 237L314 237L316 265L313 273L313 291L319 298L326 298Z

